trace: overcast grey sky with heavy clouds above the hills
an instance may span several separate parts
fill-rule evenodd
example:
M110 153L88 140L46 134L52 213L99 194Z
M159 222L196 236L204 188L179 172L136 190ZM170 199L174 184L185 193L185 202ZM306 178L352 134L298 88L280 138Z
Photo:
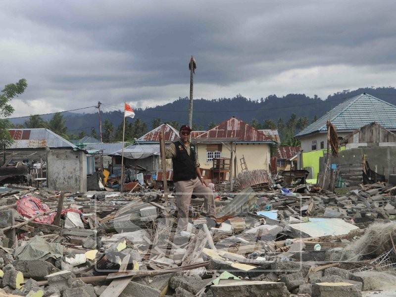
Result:
M0 85L14 116L93 105L396 86L396 1L0 2Z

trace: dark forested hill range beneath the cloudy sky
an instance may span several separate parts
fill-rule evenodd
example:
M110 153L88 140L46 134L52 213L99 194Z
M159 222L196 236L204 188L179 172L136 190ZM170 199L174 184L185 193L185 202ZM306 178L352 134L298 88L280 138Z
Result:
M196 128L207 129L209 125L219 123L231 116L237 116L247 122L256 119L259 123L262 123L267 119L277 122L279 118L282 118L286 121L292 113L296 113L297 117L307 117L310 122L315 116L320 117L344 100L364 92L396 105L396 89L393 87L345 90L329 95L324 100L316 96L311 98L304 94L289 94L283 97L270 95L258 100L251 100L238 95L234 98L195 99L193 121ZM129 121L139 118L147 124L148 129L151 128L152 121L158 118L162 122L186 123L188 108L188 98L179 98L165 105L135 109L135 119ZM105 109L109 110L109 108ZM63 115L68 131L81 129L89 134L92 127L98 131L98 113L64 113ZM102 120L105 119L110 120L117 127L122 121L122 113L120 111L103 112ZM19 119L18 122L20 123L21 120L25 119Z

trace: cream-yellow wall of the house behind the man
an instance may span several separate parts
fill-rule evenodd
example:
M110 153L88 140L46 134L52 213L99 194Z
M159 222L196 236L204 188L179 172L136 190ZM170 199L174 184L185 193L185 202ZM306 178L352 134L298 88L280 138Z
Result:
M213 166L213 162L206 162L206 144L197 145L198 161L201 168L209 169ZM270 162L270 145L268 144L237 144L237 173L241 172L240 158L245 157L248 170L265 169L268 170ZM231 152L225 146L222 146L221 156L225 158L231 157Z

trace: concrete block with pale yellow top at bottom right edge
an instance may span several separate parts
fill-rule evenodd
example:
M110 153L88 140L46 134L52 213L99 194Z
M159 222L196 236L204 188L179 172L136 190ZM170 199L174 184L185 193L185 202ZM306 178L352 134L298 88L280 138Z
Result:
M361 292L349 283L312 284L312 297L361 297Z

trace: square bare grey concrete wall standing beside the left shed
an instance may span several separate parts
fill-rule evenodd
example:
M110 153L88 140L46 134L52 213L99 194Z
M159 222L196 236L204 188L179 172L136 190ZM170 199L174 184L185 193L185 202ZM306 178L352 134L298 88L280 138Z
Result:
M54 191L87 192L87 156L82 150L48 152L48 188Z

